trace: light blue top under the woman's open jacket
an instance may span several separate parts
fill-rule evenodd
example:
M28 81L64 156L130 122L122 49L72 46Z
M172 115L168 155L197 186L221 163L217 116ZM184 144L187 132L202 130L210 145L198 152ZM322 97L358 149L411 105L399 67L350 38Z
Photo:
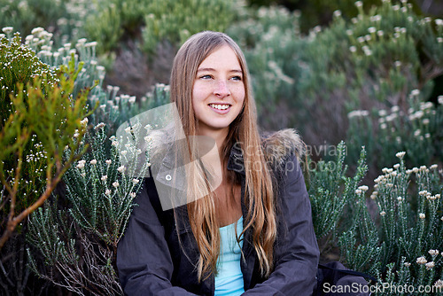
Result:
M221 227L220 255L215 276L215 296L238 296L245 292L242 269L240 269L241 248L236 238L236 223ZM243 230L243 216L237 221L237 235ZM243 238L243 236L242 236Z

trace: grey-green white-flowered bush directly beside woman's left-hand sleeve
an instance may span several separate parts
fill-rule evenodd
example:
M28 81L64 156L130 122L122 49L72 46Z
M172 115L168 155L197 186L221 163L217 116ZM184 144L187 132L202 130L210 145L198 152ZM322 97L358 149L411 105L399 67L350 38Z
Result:
M103 123L85 141L89 153L64 176L69 206L60 211L45 206L30 219L27 239L43 256L46 268L39 268L28 251L30 266L40 277L77 294L119 295L115 252L149 164L143 162L137 169L122 166L119 140L106 136ZM122 157L139 159L139 143L134 144Z

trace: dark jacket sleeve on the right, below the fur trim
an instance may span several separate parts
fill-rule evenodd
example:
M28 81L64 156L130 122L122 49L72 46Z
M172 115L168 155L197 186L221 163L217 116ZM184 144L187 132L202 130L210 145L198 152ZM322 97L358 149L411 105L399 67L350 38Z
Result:
M305 181L295 156L286 162L277 198L275 269L242 295L312 295L319 250Z

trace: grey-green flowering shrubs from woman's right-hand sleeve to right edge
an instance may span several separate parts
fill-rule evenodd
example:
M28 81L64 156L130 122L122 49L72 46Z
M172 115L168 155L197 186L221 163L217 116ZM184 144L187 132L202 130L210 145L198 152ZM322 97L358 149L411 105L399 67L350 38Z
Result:
M379 284L416 291L442 287L443 170L438 165L407 169L407 153L398 152L399 163L383 168L369 189L359 186L367 169L365 150L353 177L345 175L345 151L340 144L337 160L321 161L311 170L309 196L323 255L338 246L348 268L377 277ZM402 295L388 290L373 294Z

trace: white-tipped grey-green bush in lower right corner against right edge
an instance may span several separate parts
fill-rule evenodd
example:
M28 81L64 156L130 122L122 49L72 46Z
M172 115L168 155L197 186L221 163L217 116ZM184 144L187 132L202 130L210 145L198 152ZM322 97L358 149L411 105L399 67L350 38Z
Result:
M407 169L404 152L397 157L400 163L385 167L375 180L370 195L377 204L374 217L369 215L365 192L356 192L361 219L354 219L352 228L339 237L341 252L349 268L369 272L381 282L416 288L439 285L443 277L439 254L443 248L443 178L437 165Z

